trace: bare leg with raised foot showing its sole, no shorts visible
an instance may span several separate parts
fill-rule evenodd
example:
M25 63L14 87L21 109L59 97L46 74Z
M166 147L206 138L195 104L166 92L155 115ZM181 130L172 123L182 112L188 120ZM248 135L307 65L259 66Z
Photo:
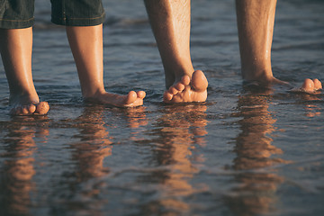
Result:
M208 82L190 56L190 1L145 0L166 76L166 103L203 102Z

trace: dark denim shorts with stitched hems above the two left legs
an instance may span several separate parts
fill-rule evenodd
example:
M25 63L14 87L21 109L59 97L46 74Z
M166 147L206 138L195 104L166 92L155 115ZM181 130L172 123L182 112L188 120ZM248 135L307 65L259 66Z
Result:
M23 29L34 23L35 0L0 0L0 28ZM67 26L103 23L101 0L50 0L51 22Z

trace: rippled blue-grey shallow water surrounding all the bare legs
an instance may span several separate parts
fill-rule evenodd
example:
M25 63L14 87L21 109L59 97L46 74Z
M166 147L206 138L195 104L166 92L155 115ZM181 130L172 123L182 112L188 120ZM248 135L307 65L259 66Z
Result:
M104 2L104 82L144 106L86 104L64 29L36 1L33 76L47 116L10 117L0 67L1 215L322 215L324 97L244 91L233 1L193 1L206 103L165 105L141 1ZM279 1L275 76L324 80L324 2Z

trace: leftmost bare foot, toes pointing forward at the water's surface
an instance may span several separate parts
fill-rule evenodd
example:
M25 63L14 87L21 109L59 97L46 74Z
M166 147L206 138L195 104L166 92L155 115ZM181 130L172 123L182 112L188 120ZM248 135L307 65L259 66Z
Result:
M28 100L26 98L19 98L11 101L13 107L10 111L11 115L44 115L49 112L49 103L47 102Z

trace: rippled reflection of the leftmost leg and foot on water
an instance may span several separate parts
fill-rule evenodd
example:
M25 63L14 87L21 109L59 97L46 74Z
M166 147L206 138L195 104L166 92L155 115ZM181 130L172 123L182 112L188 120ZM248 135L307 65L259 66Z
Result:
M46 143L49 133L47 117L18 118L12 121L2 143L5 146L4 163L0 165L1 215L28 215L31 207L31 192L35 190L32 180L34 169L34 138ZM40 125L39 121L43 121Z

